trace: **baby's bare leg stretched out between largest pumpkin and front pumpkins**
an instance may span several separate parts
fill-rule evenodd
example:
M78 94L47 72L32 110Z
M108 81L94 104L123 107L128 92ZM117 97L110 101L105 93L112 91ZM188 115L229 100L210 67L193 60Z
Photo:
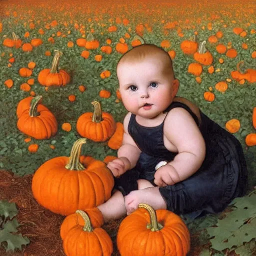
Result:
M116 190L108 201L98 206L98 209L104 217L104 222L125 216L126 208L122 193Z

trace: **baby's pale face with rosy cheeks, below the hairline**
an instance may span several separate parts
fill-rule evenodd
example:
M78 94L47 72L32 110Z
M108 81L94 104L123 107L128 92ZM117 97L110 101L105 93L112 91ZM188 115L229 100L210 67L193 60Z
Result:
M173 75L164 74L160 59L138 63L119 63L117 76L125 108L143 118L154 118L163 112L175 96ZM165 71L166 73L166 71Z

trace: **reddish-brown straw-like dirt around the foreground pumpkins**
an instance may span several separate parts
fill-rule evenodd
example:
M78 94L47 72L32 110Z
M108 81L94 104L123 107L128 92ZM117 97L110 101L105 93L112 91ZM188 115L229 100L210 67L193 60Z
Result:
M17 220L20 223L19 232L27 236L30 243L22 246L22 251L6 252L1 246L0 256L64 256L60 237L60 226L64 216L52 213L41 207L33 198L31 191L32 175L14 176L13 173L0 171L0 200L8 199L15 202L18 208ZM120 256L116 248L116 234L122 219L112 221L103 226L110 235L113 245L113 256ZM202 245L199 234L191 236L191 251L189 256L198 256L203 249L210 247ZM229 256L236 254L229 253Z

